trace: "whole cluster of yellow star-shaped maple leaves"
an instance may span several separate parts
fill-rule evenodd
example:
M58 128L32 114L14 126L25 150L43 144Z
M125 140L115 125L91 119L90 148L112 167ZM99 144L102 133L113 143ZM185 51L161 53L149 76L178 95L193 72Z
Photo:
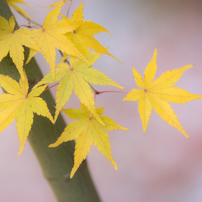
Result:
M46 16L43 25L38 27L29 25L27 28L22 28L22 26L16 28L14 16L8 21L0 16L0 62L9 53L21 76L17 82L9 76L0 75L0 86L6 91L5 94L0 95L0 132L16 119L20 140L18 154L20 154L31 130L34 113L48 118L53 124L60 111L63 111L70 119L76 119L77 121L68 124L55 143L49 145L49 147L57 147L63 142L76 140L71 178L86 158L93 144L117 169L106 130L128 129L118 125L109 117L102 116L103 107L95 108L95 94L99 93L91 84L124 88L104 73L92 68L101 54L118 60L108 52L108 48L105 48L93 37L100 32L109 34L110 32L97 23L84 21L83 3L74 11L71 18L61 15L61 8L67 1L51 4L49 8L54 8ZM7 2L27 19L30 19L15 4L25 4L23 0L7 0ZM61 20L58 20L59 16L62 16ZM30 48L27 61L24 61L23 46ZM62 53L59 64L55 64L55 49ZM50 66L50 72L29 91L29 83L23 66L37 52L40 52L46 59ZM184 71L192 65L167 71L153 81L157 70L156 55L157 50L155 49L154 56L144 72L144 78L133 67L135 81L141 89L132 89L131 92L127 92L127 96L123 100L139 100L138 110L144 132L153 108L164 121L188 137L168 102L186 103L202 98L201 95L173 87ZM46 102L40 98L40 95L45 91L47 84L56 82L58 82L56 111L52 117ZM63 109L73 90L81 102L81 110Z

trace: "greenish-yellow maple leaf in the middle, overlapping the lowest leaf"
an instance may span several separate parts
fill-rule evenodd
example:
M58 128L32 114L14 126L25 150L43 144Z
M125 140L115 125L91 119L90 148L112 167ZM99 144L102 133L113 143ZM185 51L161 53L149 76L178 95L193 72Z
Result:
M99 53L93 52L86 55L86 58L90 62L90 65L93 65L99 57ZM37 86L39 86L61 80L57 87L56 93L56 112L54 118L55 121L59 115L60 110L69 100L73 89L75 94L80 99L81 103L86 105L87 108L93 113L93 115L98 120L100 120L95 110L94 94L88 82L92 84L111 85L118 88L123 88L119 84L112 81L104 73L93 68L88 68L89 65L84 63L82 60L79 60L78 58L71 57L70 66L66 63L60 63L57 66L59 68L56 69L55 78L52 77L51 73L48 73L37 84Z

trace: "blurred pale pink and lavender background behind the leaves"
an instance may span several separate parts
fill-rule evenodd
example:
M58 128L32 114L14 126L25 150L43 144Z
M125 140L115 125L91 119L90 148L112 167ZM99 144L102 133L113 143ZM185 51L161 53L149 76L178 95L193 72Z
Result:
M34 9L22 8L43 23L49 5L55 0L26 0ZM73 0L71 12L82 1ZM194 67L177 82L178 87L202 94L202 3L200 0L84 0L84 18L106 27L113 35L101 33L97 39L122 64L103 55L95 68L125 87L135 88L132 66L143 75L157 47L157 77L164 71L188 64ZM63 14L68 7L62 9ZM16 14L16 12L14 12ZM26 21L16 14L19 24ZM59 56L59 55L58 55ZM49 67L37 54L43 73ZM59 57L57 59L59 61ZM98 90L114 90L97 87ZM55 89L52 90L55 93ZM171 104L189 134L186 139L154 111L146 133L137 102L123 102L125 94L106 93L96 98L110 116L130 131L109 132L111 150L118 170L96 149L87 159L103 202L201 202L202 201L202 101ZM79 107L72 96L66 107ZM66 119L67 122L70 121ZM17 157L19 140L15 122L0 135L0 201L56 202L27 142Z

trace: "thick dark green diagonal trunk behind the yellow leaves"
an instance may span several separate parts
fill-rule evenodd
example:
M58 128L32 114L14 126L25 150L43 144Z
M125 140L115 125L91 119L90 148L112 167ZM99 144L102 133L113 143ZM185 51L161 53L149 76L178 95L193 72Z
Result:
M7 20L12 15L6 0L0 2L0 15ZM28 49L25 49L26 58L28 52ZM34 59L24 68L30 87L43 77ZM9 75L13 79L19 80L19 73L9 55L0 62L0 74ZM42 98L47 102L51 113L54 114L55 101L50 91L43 92ZM49 144L57 140L65 127L66 124L61 115L54 125L42 116L34 116L28 140L40 163L44 177L48 180L59 202L99 202L100 199L91 180L86 161L80 166L75 176L71 180L69 178L68 173L70 173L74 161L74 141L63 143L56 148L48 147Z

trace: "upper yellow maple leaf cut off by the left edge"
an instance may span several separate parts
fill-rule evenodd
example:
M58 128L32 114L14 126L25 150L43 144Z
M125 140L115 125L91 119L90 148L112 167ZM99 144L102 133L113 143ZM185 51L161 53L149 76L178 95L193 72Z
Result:
M26 29L15 30L15 18L12 16L9 21L0 16L0 62L6 57L8 52L16 65L19 73L24 78L23 61L24 61L24 46L39 50L39 47L27 35Z

